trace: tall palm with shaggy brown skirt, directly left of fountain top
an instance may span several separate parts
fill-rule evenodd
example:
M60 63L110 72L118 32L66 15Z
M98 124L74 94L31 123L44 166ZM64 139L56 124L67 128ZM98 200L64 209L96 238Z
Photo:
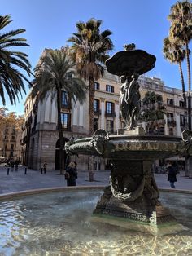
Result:
M100 32L102 20L90 19L76 24L76 33L68 38L72 42L72 59L82 78L89 81L89 132L94 133L94 82L103 76L103 64L109 57L107 52L113 49L111 31Z

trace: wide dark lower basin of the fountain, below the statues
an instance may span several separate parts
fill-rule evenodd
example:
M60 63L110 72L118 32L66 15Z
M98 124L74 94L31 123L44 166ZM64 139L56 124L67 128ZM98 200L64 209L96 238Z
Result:
M76 139L69 150L76 154L98 155L112 159L155 160L172 157L183 150L181 137L168 135L110 135L111 152L102 155L95 147L92 137ZM103 152L105 150L103 149Z

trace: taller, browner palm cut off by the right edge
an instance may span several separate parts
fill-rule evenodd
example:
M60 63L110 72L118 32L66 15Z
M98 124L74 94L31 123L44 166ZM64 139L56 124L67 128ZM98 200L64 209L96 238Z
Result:
M192 3L189 1L177 2L171 7L171 14L168 15L171 22L170 38L177 40L181 45L185 46L185 55L188 70L188 120L189 129L191 130L191 86L190 86L190 51L189 42L192 38Z

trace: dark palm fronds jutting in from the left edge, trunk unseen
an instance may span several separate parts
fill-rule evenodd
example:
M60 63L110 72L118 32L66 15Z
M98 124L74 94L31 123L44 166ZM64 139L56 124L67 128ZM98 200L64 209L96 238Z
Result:
M0 31L11 23L11 16L0 16ZM16 35L24 33L25 29L16 29L8 33L0 33L0 97L2 104L6 104L5 92L11 104L16 104L22 91L25 93L24 81L30 83L27 77L21 73L24 70L30 76L31 65L28 55L21 51L13 51L14 46L29 46L24 38L15 38ZM9 50L9 48L11 50ZM19 68L19 69L17 69Z

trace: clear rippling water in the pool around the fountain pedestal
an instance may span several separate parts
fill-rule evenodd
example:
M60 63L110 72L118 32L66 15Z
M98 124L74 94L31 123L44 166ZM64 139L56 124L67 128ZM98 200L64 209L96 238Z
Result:
M101 190L53 192L0 202L0 255L192 255L192 195L161 192L188 231L152 236L107 223L91 214Z

